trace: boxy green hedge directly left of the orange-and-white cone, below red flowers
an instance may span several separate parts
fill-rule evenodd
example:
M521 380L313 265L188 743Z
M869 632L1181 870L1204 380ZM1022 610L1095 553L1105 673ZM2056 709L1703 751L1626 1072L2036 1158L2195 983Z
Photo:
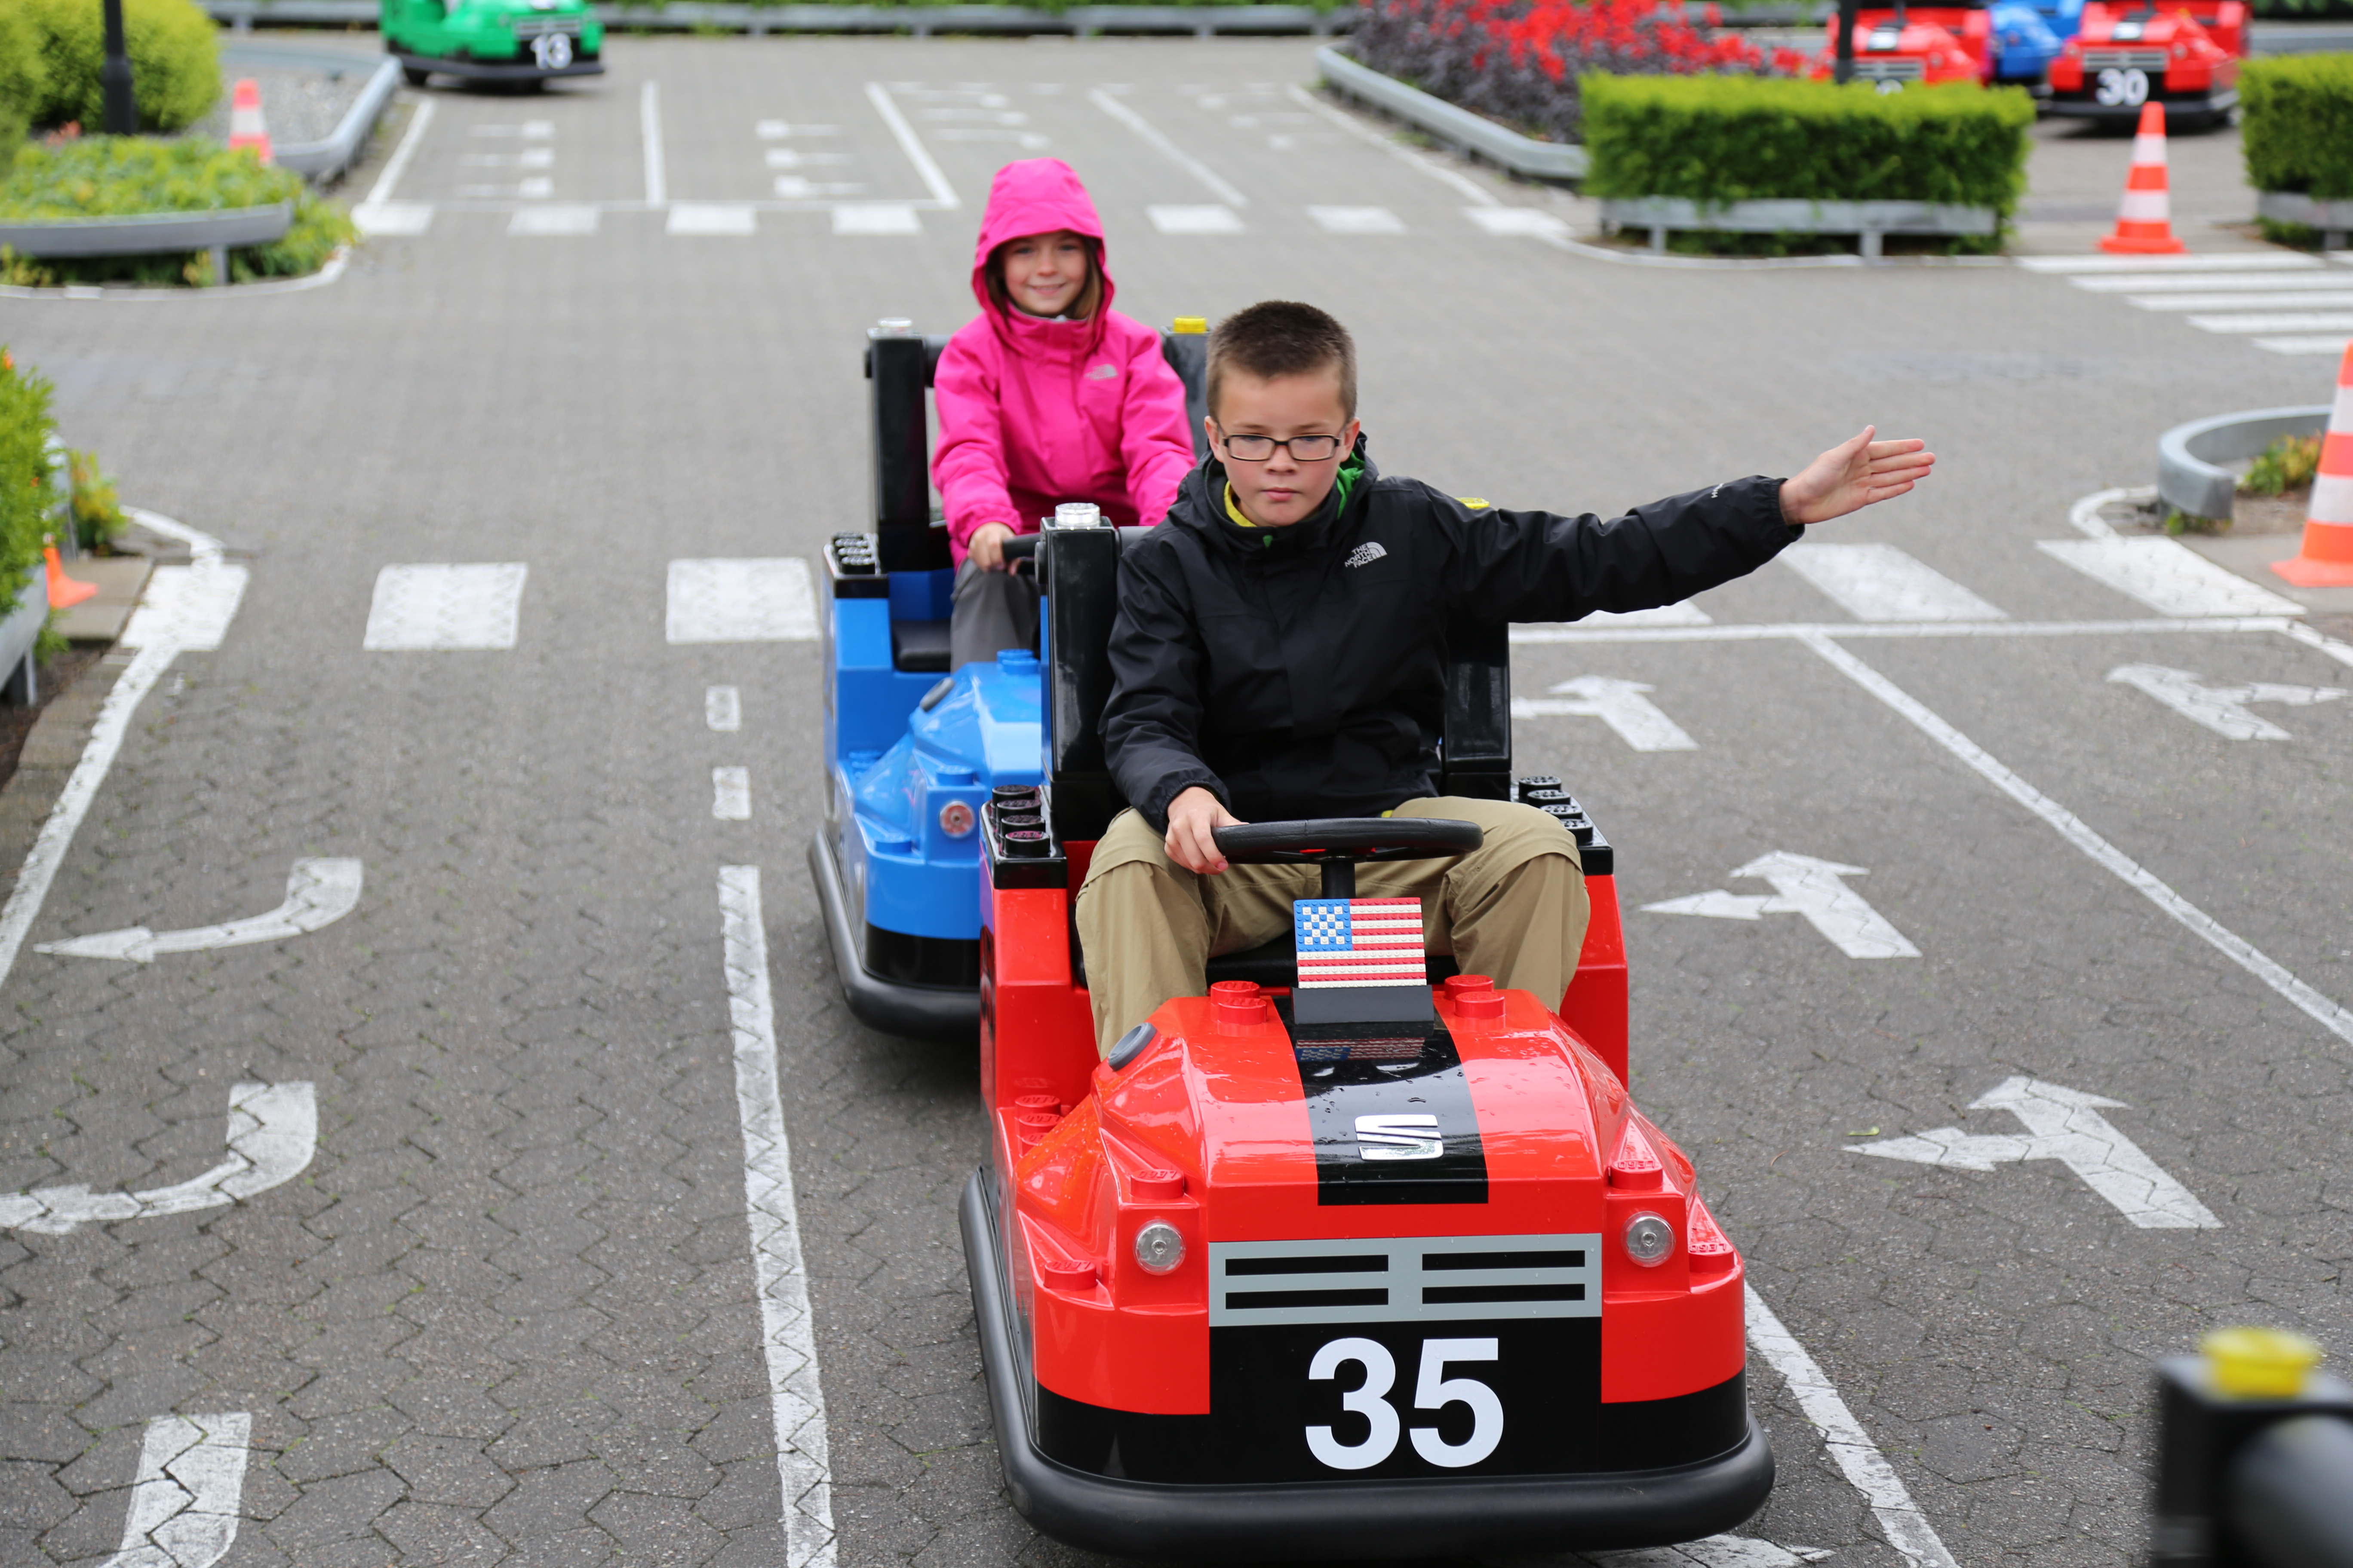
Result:
M2017 87L1873 92L1746 75L1588 75L1588 195L1944 202L2005 219L2035 106Z

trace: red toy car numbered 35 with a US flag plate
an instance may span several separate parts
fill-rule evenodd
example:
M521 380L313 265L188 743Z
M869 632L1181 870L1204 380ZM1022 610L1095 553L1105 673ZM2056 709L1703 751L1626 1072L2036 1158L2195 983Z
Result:
M1014 1507L1096 1552L1245 1561L1642 1547L1748 1519L1774 1467L1741 1258L1626 1095L1612 849L1558 780L1511 778L1501 625L1449 637L1440 788L1518 795L1584 844L1569 994L1447 976L1419 943L1435 987L1301 976L1341 940L1329 922L1384 914L1339 907L1358 860L1480 830L1259 823L1221 832L1231 860L1325 865L1304 945L1212 959L1209 997L1096 1060L1071 898L1118 809L1096 717L1120 536L1045 534L1045 785L984 809L993 1157L962 1229Z

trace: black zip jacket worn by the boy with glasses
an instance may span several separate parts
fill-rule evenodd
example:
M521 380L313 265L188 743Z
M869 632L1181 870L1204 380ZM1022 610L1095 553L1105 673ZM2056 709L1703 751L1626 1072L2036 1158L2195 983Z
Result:
M1287 529L1226 517L1191 473L1120 552L1104 745L1155 827L1191 785L1247 823L1379 816L1435 795L1445 623L1574 621L1673 604L1769 562L1800 529L1779 480L1732 480L1626 517L1468 505L1372 461Z

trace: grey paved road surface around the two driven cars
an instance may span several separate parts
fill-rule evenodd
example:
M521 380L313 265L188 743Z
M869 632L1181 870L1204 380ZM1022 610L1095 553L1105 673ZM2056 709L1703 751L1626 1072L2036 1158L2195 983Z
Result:
M1558 207L1301 103L1308 52L619 40L598 82L426 94L379 214L416 233L329 287L0 306L73 444L249 569L219 651L132 715L31 943L259 914L299 858L365 867L306 936L151 964L26 945L5 976L0 1192L186 1182L233 1084L313 1084L318 1143L233 1208L0 1239L0 1561L108 1561L151 1422L245 1413L224 1568L784 1563L727 865L762 872L838 1561L1073 1561L998 1483L953 1225L972 1053L875 1037L833 985L802 870L816 644L664 635L673 559L859 527L861 331L969 315L988 174L1031 153L1089 181L1132 315L1339 313L1393 473L1609 512L1791 473L1866 421L1941 454L1918 496L1819 531L1897 557L1518 649L1522 696L1640 682L1689 748L1577 715L1518 745L1619 846L1635 1093L1951 1561L2132 1561L2153 1356L2238 1321L2353 1345L2353 1023L2287 997L2353 997L2353 701L2259 701L2287 738L2233 741L2111 677L2353 670L2273 623L2049 630L2155 611L2035 548L2080 541L2071 503L2141 482L2165 425L2322 402L2334 360L2009 266L1640 268L1489 233L1473 209ZM2092 148L2118 183L2122 148ZM1873 635L1906 559L1977 595L1981 635ZM513 646L362 646L384 567L466 562L527 567ZM1819 585L1857 569L1847 604ZM1793 625L1828 630L1737 630ZM715 684L741 729L708 726ZM748 818L713 816L715 766L748 771ZM1835 877L1918 954L1849 957L1826 929L1852 907L1758 905L1737 872L1777 851L1861 867ZM1708 891L1753 917L1640 912ZM2101 1126L2217 1225L2137 1225L2054 1159L1849 1152L2017 1135L1969 1110L2014 1077L2115 1100ZM1746 1533L1904 1563L1781 1373L1755 1361L1753 1392L1781 1483Z

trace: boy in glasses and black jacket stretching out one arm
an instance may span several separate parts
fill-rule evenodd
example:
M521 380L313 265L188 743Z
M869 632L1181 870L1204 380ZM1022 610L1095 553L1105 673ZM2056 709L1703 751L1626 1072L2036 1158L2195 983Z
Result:
M1626 517L1506 512L1384 480L1355 421L1355 343L1266 301L1209 339L1209 458L1120 557L1104 748L1129 811L1078 893L1096 1046L1212 954L1282 933L1315 891L1297 865L1228 865L1214 830L1313 816L1478 823L1452 860L1358 870L1362 898L1421 898L1464 973L1560 1006L1586 938L1577 842L1534 806L1433 795L1445 621L1574 621L1673 604L1755 571L1809 522L1906 494L1937 461L1873 430L1795 480L1732 480Z

